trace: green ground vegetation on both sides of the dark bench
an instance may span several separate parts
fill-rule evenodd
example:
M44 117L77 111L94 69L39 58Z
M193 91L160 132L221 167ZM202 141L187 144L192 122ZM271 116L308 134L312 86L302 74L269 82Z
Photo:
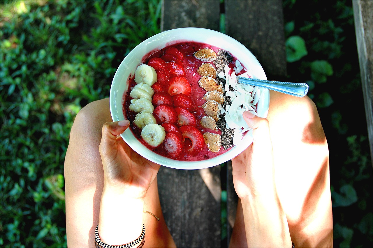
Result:
M351 2L285 0L284 14L289 81L311 86L329 143L335 246L371 246ZM73 120L109 95L126 54L160 32L160 2L3 0L0 26L0 246L66 247L63 162Z

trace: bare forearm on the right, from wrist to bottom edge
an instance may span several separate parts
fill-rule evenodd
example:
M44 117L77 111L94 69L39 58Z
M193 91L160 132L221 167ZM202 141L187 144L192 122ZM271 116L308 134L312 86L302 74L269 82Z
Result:
M291 247L286 215L276 193L241 198L248 247Z

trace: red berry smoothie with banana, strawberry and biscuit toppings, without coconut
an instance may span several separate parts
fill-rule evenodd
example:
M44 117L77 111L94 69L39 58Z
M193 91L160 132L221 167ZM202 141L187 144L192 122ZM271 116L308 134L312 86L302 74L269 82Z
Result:
M224 118L232 105L225 91L232 87L222 75L247 72L235 57L209 44L179 41L142 61L123 95L123 114L138 140L159 155L185 161L232 148L235 132Z

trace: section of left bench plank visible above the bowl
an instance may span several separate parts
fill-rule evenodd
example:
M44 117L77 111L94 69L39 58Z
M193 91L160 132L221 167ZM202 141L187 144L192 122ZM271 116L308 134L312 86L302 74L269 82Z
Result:
M165 0L161 29L208 28L219 31L219 0Z

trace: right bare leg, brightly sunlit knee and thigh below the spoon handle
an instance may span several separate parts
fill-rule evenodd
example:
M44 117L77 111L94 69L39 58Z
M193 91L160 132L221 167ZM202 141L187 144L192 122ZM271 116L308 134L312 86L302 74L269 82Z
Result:
M270 91L267 119L275 159L276 188L297 247L333 245L329 151L316 106L308 97ZM247 247L238 201L231 247Z

